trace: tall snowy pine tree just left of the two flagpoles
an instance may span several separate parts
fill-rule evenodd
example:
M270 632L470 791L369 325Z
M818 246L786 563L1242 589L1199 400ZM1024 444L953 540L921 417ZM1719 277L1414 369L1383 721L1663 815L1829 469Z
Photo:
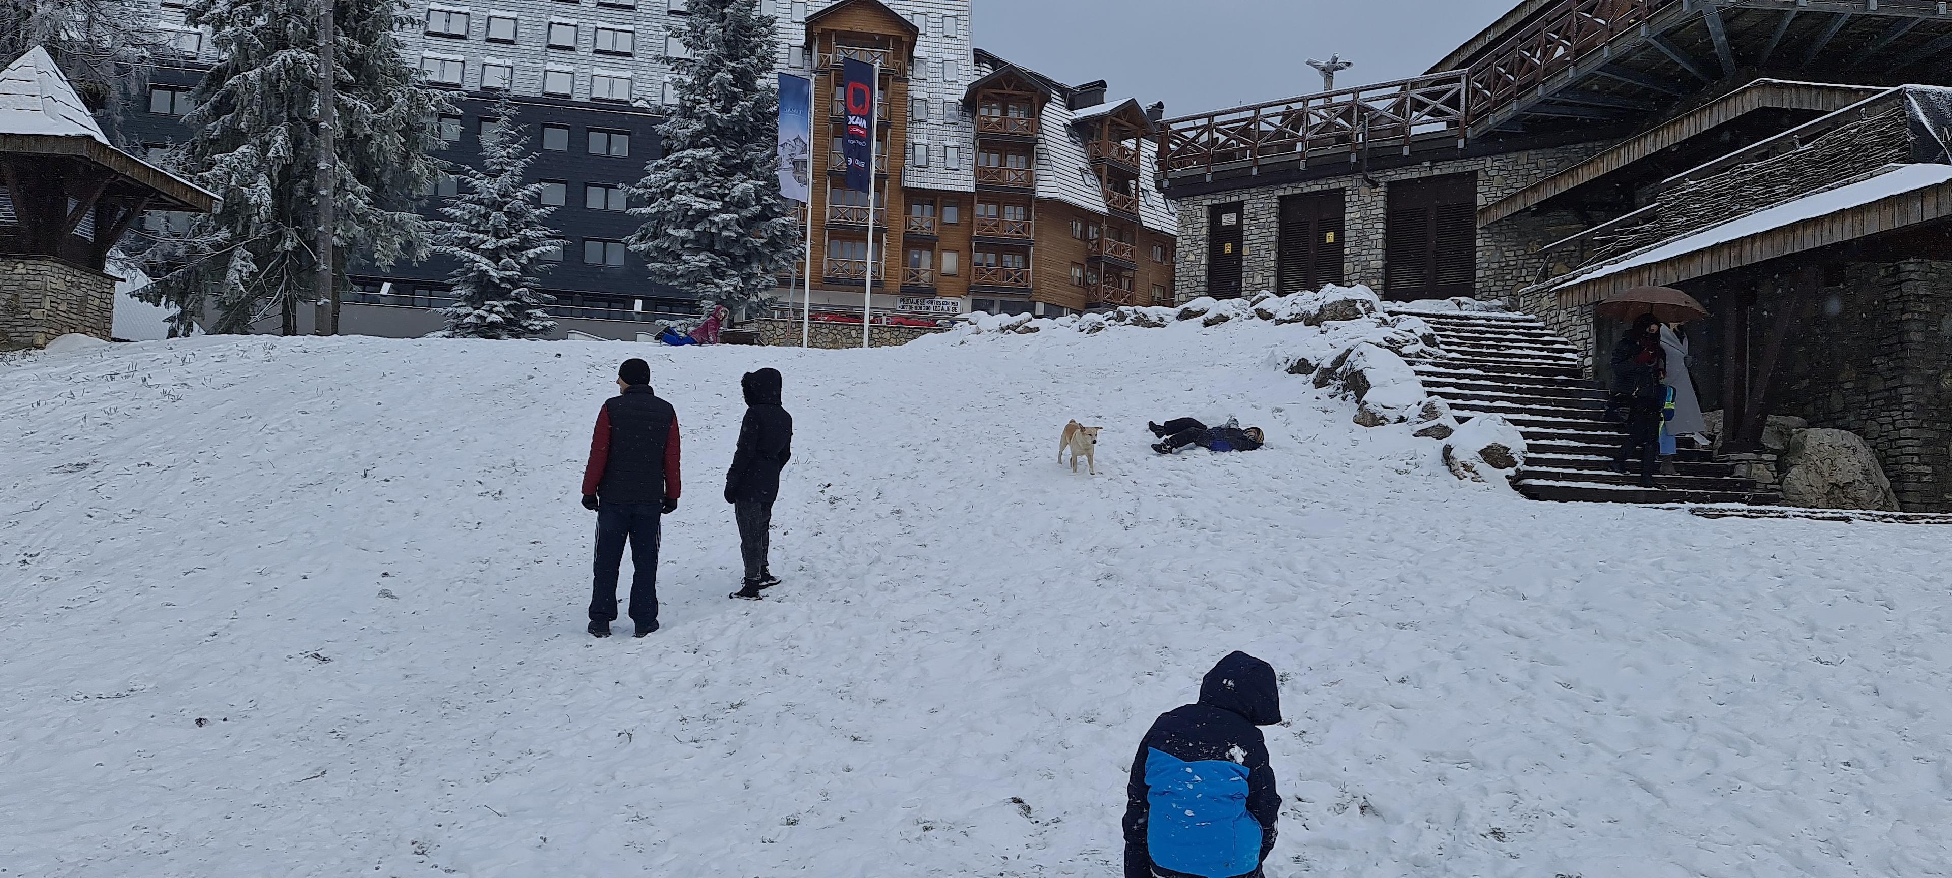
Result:
M629 238L650 279L734 312L763 304L800 242L779 195L773 18L757 0L691 0L677 101L658 129L666 154L632 187L644 224Z

